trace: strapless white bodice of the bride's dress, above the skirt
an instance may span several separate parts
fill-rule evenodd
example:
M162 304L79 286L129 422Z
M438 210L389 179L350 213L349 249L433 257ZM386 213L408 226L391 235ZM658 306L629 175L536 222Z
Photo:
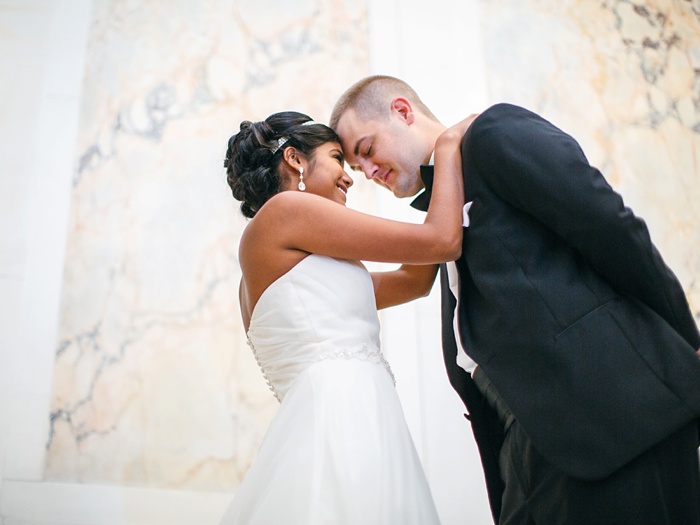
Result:
M309 255L274 281L255 305L248 344L280 401L300 374L327 359L367 360L391 375L372 279L355 261Z

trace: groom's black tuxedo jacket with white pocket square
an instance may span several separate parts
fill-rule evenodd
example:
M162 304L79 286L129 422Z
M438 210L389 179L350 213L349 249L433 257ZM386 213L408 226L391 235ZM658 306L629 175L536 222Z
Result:
M539 452L571 476L600 479L698 418L700 334L683 289L578 143L498 104L461 151L473 204L456 261L459 336ZM455 302L442 273L448 375L499 508L502 436L454 363Z

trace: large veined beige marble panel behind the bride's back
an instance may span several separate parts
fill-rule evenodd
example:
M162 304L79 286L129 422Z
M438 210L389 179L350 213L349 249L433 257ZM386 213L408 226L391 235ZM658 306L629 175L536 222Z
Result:
M327 120L367 74L366 8L98 0L93 17L46 478L232 490L277 401L240 321L227 140L286 109Z

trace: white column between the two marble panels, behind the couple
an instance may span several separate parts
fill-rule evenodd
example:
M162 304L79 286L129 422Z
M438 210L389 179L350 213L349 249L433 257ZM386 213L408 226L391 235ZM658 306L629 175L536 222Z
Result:
M479 2L368 0L370 74L407 81L445 124L486 107ZM378 213L419 222L409 199L377 189ZM384 351L442 523L489 525L491 513L464 405L447 379L440 287L381 314Z

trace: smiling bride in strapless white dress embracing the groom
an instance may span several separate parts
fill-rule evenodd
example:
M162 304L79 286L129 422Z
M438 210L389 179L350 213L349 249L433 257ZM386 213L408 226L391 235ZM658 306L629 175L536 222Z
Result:
M338 137L306 115L245 121L229 139L227 180L252 219L239 249L243 323L280 407L222 525L439 523L377 309L426 295L436 263L461 252L459 143L471 120L437 141L423 224L346 208ZM370 274L361 260L403 265Z

